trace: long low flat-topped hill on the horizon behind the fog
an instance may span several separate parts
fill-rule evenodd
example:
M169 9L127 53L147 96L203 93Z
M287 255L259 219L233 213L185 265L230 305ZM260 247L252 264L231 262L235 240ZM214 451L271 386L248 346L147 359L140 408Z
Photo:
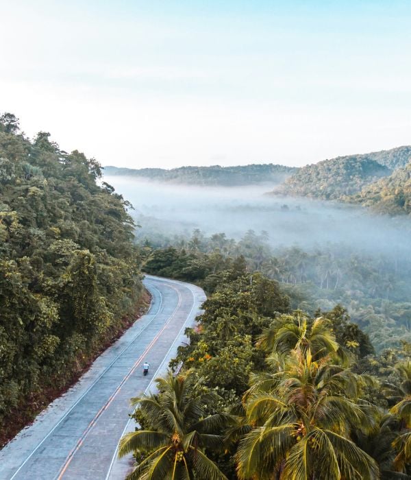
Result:
M239 165L237 167L220 167L219 165L212 167L179 167L170 170L105 167L104 173L109 176L134 176L160 182L234 187L236 185L284 182L296 170L295 167L269 163L263 165Z

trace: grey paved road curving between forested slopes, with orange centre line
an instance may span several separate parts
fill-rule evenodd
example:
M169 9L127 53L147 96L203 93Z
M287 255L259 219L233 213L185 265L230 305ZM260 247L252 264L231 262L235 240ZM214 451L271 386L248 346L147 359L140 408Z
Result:
M153 276L144 283L153 297L147 314L0 451L1 480L124 479L132 459L118 461L116 446L134 429L129 398L153 389L206 298L187 283Z

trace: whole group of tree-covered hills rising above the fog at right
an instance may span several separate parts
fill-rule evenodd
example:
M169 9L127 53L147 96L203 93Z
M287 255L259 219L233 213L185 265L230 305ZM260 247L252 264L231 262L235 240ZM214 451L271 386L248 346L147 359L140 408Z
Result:
M411 147L307 165L273 193L360 204L378 213L411 213Z

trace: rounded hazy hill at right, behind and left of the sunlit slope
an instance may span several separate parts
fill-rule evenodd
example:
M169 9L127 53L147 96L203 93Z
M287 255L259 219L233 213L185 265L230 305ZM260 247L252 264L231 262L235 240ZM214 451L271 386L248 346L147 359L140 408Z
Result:
M272 193L340 200L390 173L388 167L367 155L337 157L302 167Z

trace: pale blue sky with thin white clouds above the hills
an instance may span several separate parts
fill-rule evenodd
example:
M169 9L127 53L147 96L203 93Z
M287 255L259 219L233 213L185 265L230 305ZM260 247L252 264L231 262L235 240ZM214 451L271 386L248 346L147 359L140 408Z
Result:
M102 165L411 144L411 1L0 0L0 112Z

